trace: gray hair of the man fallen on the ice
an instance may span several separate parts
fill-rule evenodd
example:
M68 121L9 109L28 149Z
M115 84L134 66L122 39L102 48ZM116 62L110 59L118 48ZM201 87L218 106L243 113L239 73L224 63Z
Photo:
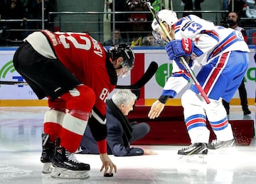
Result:
M112 95L112 101L117 107L120 107L121 104L125 104L126 106L132 102L132 100L136 100L137 97L131 90L117 90Z

